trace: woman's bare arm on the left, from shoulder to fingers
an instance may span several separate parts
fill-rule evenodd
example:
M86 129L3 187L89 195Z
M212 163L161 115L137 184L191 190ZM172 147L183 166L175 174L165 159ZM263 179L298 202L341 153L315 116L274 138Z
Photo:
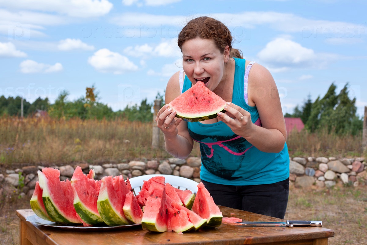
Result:
M175 118L176 112L168 107L168 103L181 94L179 87L179 72L175 73L168 81L166 87L166 105L157 113L157 126L164 134L166 151L177 158L186 158L193 148L193 139L189 135L187 122ZM168 127L168 129L167 129Z

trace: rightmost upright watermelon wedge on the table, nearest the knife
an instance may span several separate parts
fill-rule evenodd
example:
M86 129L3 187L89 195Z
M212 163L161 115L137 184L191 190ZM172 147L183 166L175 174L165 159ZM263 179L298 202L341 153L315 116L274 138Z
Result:
M215 205L203 182L200 182L197 187L195 201L191 210L200 215L200 217L207 219L207 226L219 226L223 217L221 210Z

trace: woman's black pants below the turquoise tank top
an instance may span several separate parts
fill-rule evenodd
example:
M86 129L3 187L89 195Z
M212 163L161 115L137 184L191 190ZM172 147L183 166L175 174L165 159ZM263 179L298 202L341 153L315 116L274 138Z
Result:
M217 205L284 219L289 178L264 185L221 185L202 181Z

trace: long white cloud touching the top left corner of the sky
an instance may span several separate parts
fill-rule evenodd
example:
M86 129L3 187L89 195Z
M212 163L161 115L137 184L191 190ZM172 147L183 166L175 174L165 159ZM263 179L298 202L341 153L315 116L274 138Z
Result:
M1 1L0 7L16 10L57 12L77 18L98 17L107 14L113 7L108 0L18 0Z

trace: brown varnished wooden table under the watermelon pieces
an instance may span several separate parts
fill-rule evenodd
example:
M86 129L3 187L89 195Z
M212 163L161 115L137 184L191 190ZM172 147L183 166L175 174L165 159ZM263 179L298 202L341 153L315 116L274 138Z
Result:
M269 216L219 206L223 217L238 217L248 221L282 221ZM141 226L114 231L65 231L54 227L40 226L26 220L34 215L32 210L17 210L20 218L21 245L119 245L119 244L294 244L327 245L333 230L323 227L243 227L221 224L215 228L203 228L178 234L154 233L142 230Z

